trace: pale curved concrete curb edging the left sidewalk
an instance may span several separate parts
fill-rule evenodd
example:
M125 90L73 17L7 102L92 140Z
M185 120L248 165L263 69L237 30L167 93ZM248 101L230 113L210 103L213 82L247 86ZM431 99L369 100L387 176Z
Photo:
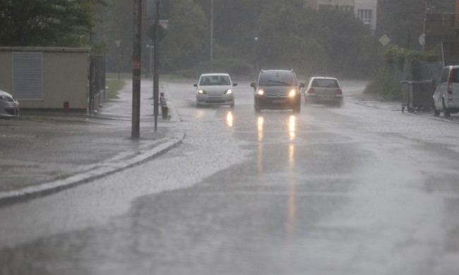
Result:
M153 145L150 145L150 150L145 151L145 153L131 155L130 158L127 157L124 158L124 160L114 160L100 165L94 165L93 168L90 168L83 173L70 175L64 179L54 180L52 182L26 187L23 189L11 190L9 192L0 192L0 205L43 197L47 194L53 194L64 189L69 189L71 187L82 185L98 178L114 174L115 172L126 170L127 168L131 168L133 165L138 165L157 156L161 156L170 149L179 146L185 136L186 134L181 132L176 136L157 140Z

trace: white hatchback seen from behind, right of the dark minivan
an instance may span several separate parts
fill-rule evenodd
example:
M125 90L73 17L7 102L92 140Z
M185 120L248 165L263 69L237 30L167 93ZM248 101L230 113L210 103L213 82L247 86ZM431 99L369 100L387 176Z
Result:
M304 103L333 103L342 105L342 89L337 78L313 76L306 81Z

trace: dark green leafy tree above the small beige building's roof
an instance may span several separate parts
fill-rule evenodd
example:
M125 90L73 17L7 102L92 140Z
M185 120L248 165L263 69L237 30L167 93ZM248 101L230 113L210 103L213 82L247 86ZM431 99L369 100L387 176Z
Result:
M1 46L88 44L93 14L104 0L1 0Z

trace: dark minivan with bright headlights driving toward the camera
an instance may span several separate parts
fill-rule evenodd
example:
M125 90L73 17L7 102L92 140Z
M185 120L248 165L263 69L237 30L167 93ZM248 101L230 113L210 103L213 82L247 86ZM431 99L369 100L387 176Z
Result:
M254 107L256 112L261 110L293 110L300 111L303 83L297 82L293 70L262 70L257 83L251 83L254 88Z

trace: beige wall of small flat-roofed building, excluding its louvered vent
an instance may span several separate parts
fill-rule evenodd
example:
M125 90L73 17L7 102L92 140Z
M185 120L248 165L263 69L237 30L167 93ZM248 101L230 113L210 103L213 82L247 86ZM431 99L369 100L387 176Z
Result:
M0 89L15 96L13 53L42 53L41 98L21 98L21 109L88 112L90 49L3 47L0 48Z

